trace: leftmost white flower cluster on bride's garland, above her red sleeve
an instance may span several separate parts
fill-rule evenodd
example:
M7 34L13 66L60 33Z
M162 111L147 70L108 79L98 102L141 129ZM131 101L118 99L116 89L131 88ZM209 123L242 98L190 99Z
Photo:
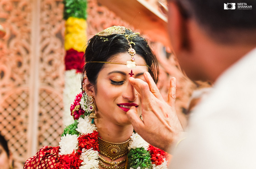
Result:
M78 149L78 136L66 134L66 136L61 137L59 142L59 155L72 154L74 150Z

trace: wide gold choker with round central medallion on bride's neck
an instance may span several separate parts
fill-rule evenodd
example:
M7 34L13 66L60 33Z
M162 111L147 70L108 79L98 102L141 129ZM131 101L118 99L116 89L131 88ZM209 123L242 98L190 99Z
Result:
M131 138L122 143L112 143L103 140L101 137L98 137L100 153L107 156L113 161L119 157L128 154L128 145L130 140Z

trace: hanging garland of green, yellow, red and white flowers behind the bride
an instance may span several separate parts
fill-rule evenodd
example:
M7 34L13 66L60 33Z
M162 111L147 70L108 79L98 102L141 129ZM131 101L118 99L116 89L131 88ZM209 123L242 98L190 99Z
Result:
M69 113L70 100L74 94L80 91L81 80L79 73L85 64L83 54L87 41L87 0L63 0L63 19L65 22L64 47L65 56L65 88L63 91L64 125L74 122ZM79 77L79 78L78 78Z

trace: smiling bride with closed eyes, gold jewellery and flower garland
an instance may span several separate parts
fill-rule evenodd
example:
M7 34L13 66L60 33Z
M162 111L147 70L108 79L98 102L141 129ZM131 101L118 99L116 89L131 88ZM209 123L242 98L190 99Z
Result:
M89 40L84 56L82 92L70 108L74 123L64 129L58 147L42 147L24 168L167 168L167 153L134 132L126 116L132 106L141 116L141 98L129 77L145 81L148 71L158 82L157 59L147 41L113 26Z

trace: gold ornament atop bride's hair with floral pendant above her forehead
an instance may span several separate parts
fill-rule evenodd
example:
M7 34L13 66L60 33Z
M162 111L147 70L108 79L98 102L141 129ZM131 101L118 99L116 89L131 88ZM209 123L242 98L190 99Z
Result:
M131 31L131 29L127 29L124 26L112 26L112 27L104 29L103 31L97 33L96 35L98 35L98 36L109 36L109 35L113 35L113 34L124 35L126 30ZM132 62L135 61L134 55L135 55L136 51L131 46L131 43L133 43L134 45L135 45L135 43L133 41L130 41L129 38L133 37L133 36L137 36L138 34L139 33L136 32L136 33L124 35L126 37L127 41L128 41L129 46L130 46L130 48L128 49L128 53L131 55L131 61ZM108 39L105 39L104 41L107 41L107 40Z

